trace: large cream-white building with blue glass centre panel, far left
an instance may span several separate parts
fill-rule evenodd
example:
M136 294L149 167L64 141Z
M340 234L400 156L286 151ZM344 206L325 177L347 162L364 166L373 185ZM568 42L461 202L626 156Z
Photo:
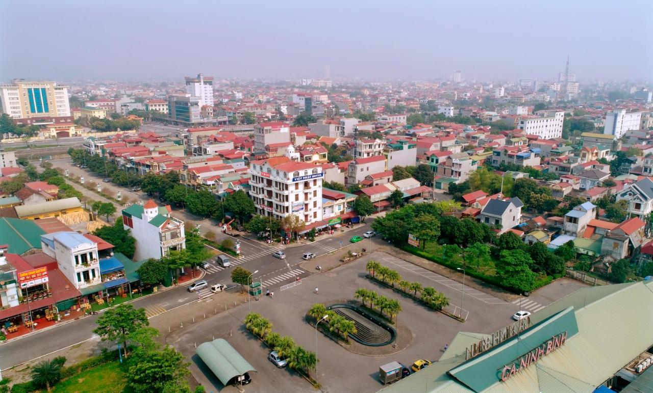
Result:
M68 87L56 82L15 80L0 86L0 109L12 119L71 115Z

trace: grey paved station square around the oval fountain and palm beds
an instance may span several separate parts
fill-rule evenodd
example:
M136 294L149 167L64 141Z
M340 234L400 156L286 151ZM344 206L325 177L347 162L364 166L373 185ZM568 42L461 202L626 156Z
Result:
M308 351L315 351L315 328L304 320L304 315L312 304L321 302L328 305L353 300L354 292L360 287L374 289L379 295L400 300L403 311L398 315L398 320L400 324L409 327L411 337L398 337L398 340L409 340L410 344L394 355L357 355L322 334L317 335L318 381L326 392L375 392L383 386L377 379L377 371L382 364L392 360L407 365L421 358L438 360L444 345L451 342L459 331L494 332L511 323L511 315L519 310L519 304L466 287L462 300L469 317L465 323L460 323L365 278L365 265L370 259L397 270L404 280L419 281L424 286L432 286L445 293L452 306L460 304L462 284L383 252L374 252L337 269L315 274L302 280L302 285L276 292L274 299L262 297L261 300L251 302L251 311L270 319L274 332L292 336L296 343ZM315 287L319 287L319 295L315 293ZM560 290L553 292L560 293ZM552 294L547 295L550 296ZM532 312L535 312L535 309L550 303L547 297L537 297L535 294L525 300L537 299L530 300L533 304L538 304L532 308ZM221 313L178 330L168 337L168 342L193 360L191 370L195 378L207 386L207 391L237 391L231 386L223 388L195 355L195 345L214 338L225 338L256 368L257 372L251 375L252 383L245 386L246 391L267 392L272 387L275 391L286 392L311 390L311 385L292 370L278 369L267 360L269 350L244 330L242 320L247 312L247 306L240 306L229 313Z

